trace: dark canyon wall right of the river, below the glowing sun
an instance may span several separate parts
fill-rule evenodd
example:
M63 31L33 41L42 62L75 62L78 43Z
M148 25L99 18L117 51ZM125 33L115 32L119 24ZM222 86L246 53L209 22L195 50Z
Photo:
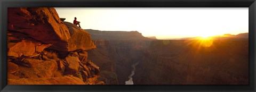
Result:
M139 85L248 85L248 39L157 40L133 77Z

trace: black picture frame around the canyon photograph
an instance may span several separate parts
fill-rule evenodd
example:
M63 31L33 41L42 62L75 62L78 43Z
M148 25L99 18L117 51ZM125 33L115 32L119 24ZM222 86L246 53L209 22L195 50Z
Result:
M255 0L1 0L1 91L255 91ZM7 85L7 7L249 7L249 85Z

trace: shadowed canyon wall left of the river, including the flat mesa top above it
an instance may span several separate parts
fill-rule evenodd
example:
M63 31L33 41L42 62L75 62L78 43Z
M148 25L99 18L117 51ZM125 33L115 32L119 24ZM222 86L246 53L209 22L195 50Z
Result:
M100 66L99 79L113 85L124 85L129 80L131 65L141 61L145 48L153 40L143 37L138 31L86 31L97 45L97 49L88 52L88 58Z

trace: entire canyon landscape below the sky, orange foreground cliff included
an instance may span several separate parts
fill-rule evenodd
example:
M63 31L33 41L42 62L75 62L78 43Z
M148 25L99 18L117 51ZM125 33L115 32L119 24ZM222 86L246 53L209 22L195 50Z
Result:
M249 34L158 40L9 8L9 85L248 85Z

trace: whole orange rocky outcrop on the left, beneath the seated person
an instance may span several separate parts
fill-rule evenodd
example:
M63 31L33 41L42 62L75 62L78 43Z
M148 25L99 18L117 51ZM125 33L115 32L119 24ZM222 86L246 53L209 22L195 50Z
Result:
M103 84L90 34L63 20L54 8L8 9L9 85Z

